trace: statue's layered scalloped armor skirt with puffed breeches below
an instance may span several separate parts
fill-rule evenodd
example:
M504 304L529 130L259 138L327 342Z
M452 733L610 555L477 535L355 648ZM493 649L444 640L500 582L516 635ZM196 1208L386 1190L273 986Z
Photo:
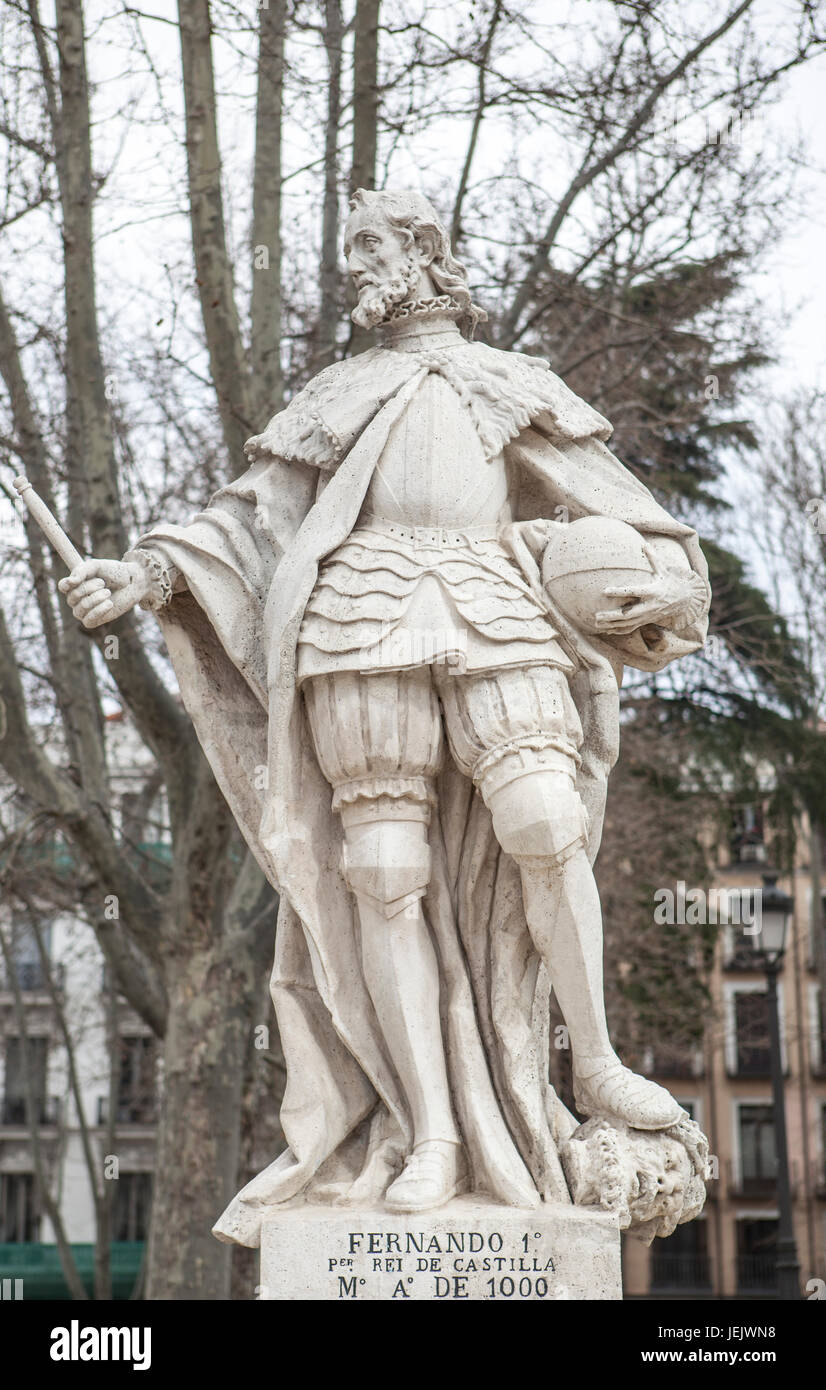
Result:
M299 639L334 810L432 802L445 741L485 796L526 767L574 778L572 670L495 527L360 523L321 569Z

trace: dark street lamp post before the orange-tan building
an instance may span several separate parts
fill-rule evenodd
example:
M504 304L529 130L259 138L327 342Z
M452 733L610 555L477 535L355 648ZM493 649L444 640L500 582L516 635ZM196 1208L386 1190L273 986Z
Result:
M791 1183L788 1180L788 1144L786 1138L786 1083L780 1052L780 1013L777 1008L777 976L786 951L786 934L794 902L777 887L777 874L765 873L761 890L761 922L750 941L766 972L769 999L769 1056L772 1066L772 1104L775 1111L775 1147L777 1151L777 1297L800 1300L800 1265L791 1218Z

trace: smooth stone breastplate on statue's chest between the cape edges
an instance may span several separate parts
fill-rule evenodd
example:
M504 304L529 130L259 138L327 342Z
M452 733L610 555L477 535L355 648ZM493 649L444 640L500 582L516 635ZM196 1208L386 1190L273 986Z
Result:
M444 377L426 377L391 430L362 514L414 527L510 520L505 457L485 457L470 411Z

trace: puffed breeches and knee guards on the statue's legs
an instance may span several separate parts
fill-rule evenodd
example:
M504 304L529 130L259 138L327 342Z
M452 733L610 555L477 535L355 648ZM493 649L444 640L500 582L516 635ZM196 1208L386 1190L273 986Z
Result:
M583 734L559 669L338 671L306 681L303 695L342 817L345 880L385 917L427 891L427 827L445 744L517 862L559 865L585 844L574 784Z

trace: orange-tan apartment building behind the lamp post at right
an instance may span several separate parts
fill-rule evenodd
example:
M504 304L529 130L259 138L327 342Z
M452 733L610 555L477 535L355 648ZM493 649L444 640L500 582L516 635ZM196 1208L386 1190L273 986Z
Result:
M736 899L748 899L768 869L762 834L752 828L736 845L716 887ZM816 888L805 851L794 872L780 877L779 887L794 902L777 983L794 1233L801 1294L822 1298L826 1037L815 940ZM704 1045L679 1052L663 1044L647 1059L648 1073L673 1091L709 1137L713 1176L706 1208L699 1220L655 1240L648 1250L624 1240L626 1297L765 1300L777 1293L777 1165L766 976L738 926L719 929L711 995Z

